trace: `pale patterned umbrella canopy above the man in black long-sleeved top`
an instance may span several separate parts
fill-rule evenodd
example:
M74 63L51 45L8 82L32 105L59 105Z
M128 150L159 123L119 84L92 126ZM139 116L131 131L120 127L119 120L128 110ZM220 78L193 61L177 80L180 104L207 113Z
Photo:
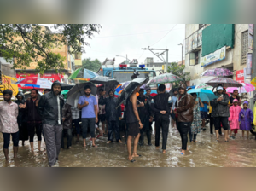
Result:
M166 83L172 83L172 82L179 82L183 81L183 78L180 78L172 73L163 73L159 76L156 76L149 80L147 85L149 84L166 84Z

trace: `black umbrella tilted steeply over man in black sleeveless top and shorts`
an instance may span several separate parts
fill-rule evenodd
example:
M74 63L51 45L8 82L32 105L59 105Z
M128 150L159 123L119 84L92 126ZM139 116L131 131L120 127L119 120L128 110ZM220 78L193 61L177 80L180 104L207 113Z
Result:
M133 79L127 86L125 86L124 90L122 91L121 95L118 97L117 107L123 104L137 89L138 86L142 86L143 84L148 83L149 78L135 78Z

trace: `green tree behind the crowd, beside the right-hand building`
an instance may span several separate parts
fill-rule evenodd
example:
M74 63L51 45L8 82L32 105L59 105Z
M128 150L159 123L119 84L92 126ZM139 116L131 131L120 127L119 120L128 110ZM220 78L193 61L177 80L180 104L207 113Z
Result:
M172 62L171 66L168 67L167 72L172 72L174 75L183 78L184 81L189 81L191 79L190 72L183 72L185 65L178 65L177 62ZM174 87L177 87L178 83L174 84Z

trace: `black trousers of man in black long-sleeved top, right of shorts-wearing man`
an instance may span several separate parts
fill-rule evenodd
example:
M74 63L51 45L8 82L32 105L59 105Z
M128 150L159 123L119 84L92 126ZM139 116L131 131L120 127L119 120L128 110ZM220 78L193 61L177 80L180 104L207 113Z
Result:
M166 150L167 136L169 130L170 119L169 115L157 115L155 119L155 147L160 146L160 130L162 128L162 149Z

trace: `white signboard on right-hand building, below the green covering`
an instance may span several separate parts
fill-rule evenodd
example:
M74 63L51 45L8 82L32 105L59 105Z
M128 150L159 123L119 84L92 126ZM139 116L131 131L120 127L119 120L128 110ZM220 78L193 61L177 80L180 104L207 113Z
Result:
M226 47L216 50L215 52L201 57L201 67L206 67L214 62L222 61L226 56Z

